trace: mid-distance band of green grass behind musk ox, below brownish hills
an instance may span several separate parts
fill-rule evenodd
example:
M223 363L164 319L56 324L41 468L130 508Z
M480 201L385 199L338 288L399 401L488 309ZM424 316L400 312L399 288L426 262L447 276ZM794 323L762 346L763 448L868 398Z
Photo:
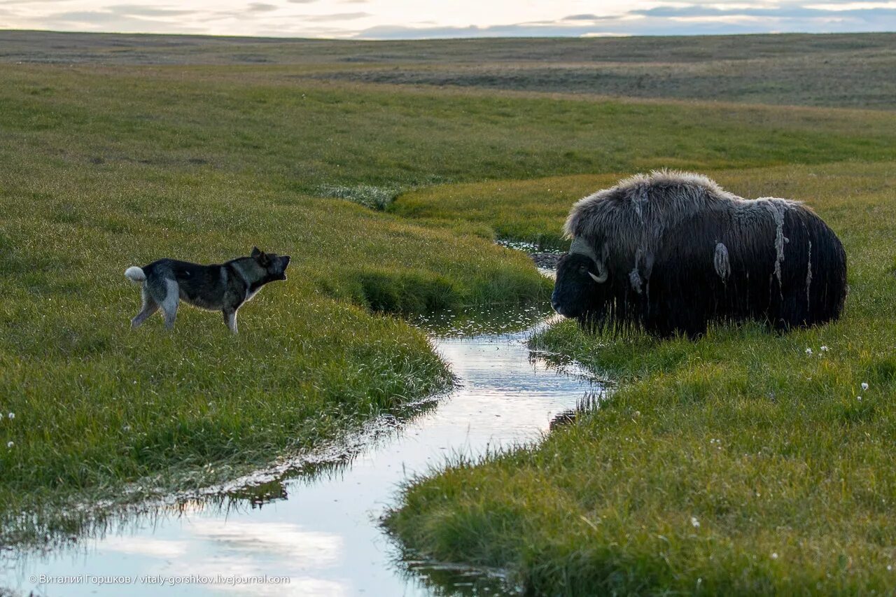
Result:
M362 200L377 196L371 187L388 196L662 165L884 160L896 139L886 112L405 91L290 78L284 67L0 65L0 74L4 134L35 160L215 169Z

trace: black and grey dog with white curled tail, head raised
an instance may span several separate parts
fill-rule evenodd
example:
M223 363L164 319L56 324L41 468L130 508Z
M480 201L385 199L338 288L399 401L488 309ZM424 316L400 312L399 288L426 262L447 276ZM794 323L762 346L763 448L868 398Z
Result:
M289 255L263 253L237 257L226 264L200 265L175 259L159 259L145 267L129 267L125 277L142 283L143 307L131 320L139 327L159 307L165 327L174 327L181 299L194 307L220 311L230 331L237 333L237 309L270 281L286 280Z

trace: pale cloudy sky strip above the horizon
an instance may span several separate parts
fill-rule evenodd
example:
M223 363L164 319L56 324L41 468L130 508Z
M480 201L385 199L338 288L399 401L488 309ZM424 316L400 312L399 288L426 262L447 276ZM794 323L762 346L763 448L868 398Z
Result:
M0 0L0 29L339 39L896 30L896 0Z

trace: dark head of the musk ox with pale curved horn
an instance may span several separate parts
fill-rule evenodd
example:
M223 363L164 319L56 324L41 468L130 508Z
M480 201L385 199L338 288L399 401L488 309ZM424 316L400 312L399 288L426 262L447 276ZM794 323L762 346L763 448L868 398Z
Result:
M568 255L557 264L551 307L562 316L588 319L600 316L609 299L604 292L609 273L594 249L582 238L573 239Z

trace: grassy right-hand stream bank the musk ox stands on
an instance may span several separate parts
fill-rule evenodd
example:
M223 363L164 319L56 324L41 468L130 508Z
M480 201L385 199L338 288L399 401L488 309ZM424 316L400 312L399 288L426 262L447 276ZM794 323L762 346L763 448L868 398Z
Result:
M509 568L536 594L896 589L896 165L714 177L804 199L838 232L840 322L783 336L719 327L699 342L556 325L532 346L618 380L615 393L539 446L415 480L388 521L402 541Z

